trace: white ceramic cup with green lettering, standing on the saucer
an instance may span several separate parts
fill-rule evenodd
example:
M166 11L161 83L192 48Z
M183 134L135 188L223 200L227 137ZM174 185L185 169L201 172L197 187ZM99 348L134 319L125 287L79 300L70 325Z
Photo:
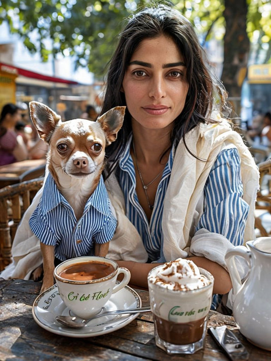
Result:
M68 267L85 262L109 264L113 266L114 271L105 277L89 280L70 280L60 276L61 272ZM124 278L116 283L119 274L124 274ZM71 258L54 269L54 278L63 302L76 316L82 318L97 314L110 299L112 293L129 283L130 277L130 271L124 267L118 267L114 260L98 256Z

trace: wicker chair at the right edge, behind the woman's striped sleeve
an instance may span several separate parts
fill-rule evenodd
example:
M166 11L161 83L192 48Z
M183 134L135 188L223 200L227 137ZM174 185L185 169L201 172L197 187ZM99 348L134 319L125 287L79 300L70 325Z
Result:
M258 164L260 172L260 189L257 193L256 213L267 211L271 215L271 159L267 159ZM260 216L255 215L255 227L259 229L261 237L270 236L270 232L265 229Z

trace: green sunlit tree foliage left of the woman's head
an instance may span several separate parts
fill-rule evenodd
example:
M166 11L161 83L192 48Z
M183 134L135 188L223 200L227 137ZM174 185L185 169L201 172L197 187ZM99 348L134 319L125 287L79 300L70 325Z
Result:
M2 4L1 4L2 3ZM110 59L123 20L145 2L91 0L0 1L0 23L8 21L31 53L76 57L99 78Z

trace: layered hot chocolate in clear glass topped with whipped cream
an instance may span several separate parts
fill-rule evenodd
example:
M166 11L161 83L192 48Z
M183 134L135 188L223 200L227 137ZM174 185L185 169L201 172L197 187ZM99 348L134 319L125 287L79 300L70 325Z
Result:
M203 348L214 277L193 261L178 258L148 274L156 345L168 354Z

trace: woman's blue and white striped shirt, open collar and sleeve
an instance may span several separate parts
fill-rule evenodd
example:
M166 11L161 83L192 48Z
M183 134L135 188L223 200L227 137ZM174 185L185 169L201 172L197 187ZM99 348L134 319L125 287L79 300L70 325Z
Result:
M170 152L157 194L152 217L147 217L136 194L135 169L130 155L131 139L119 160L119 184L124 192L127 217L139 232L149 261L165 261L163 256L163 202L173 165ZM224 149L218 155L204 187L203 214L196 231L205 228L225 236L232 244L243 244L249 206L242 199L240 158L236 148Z

